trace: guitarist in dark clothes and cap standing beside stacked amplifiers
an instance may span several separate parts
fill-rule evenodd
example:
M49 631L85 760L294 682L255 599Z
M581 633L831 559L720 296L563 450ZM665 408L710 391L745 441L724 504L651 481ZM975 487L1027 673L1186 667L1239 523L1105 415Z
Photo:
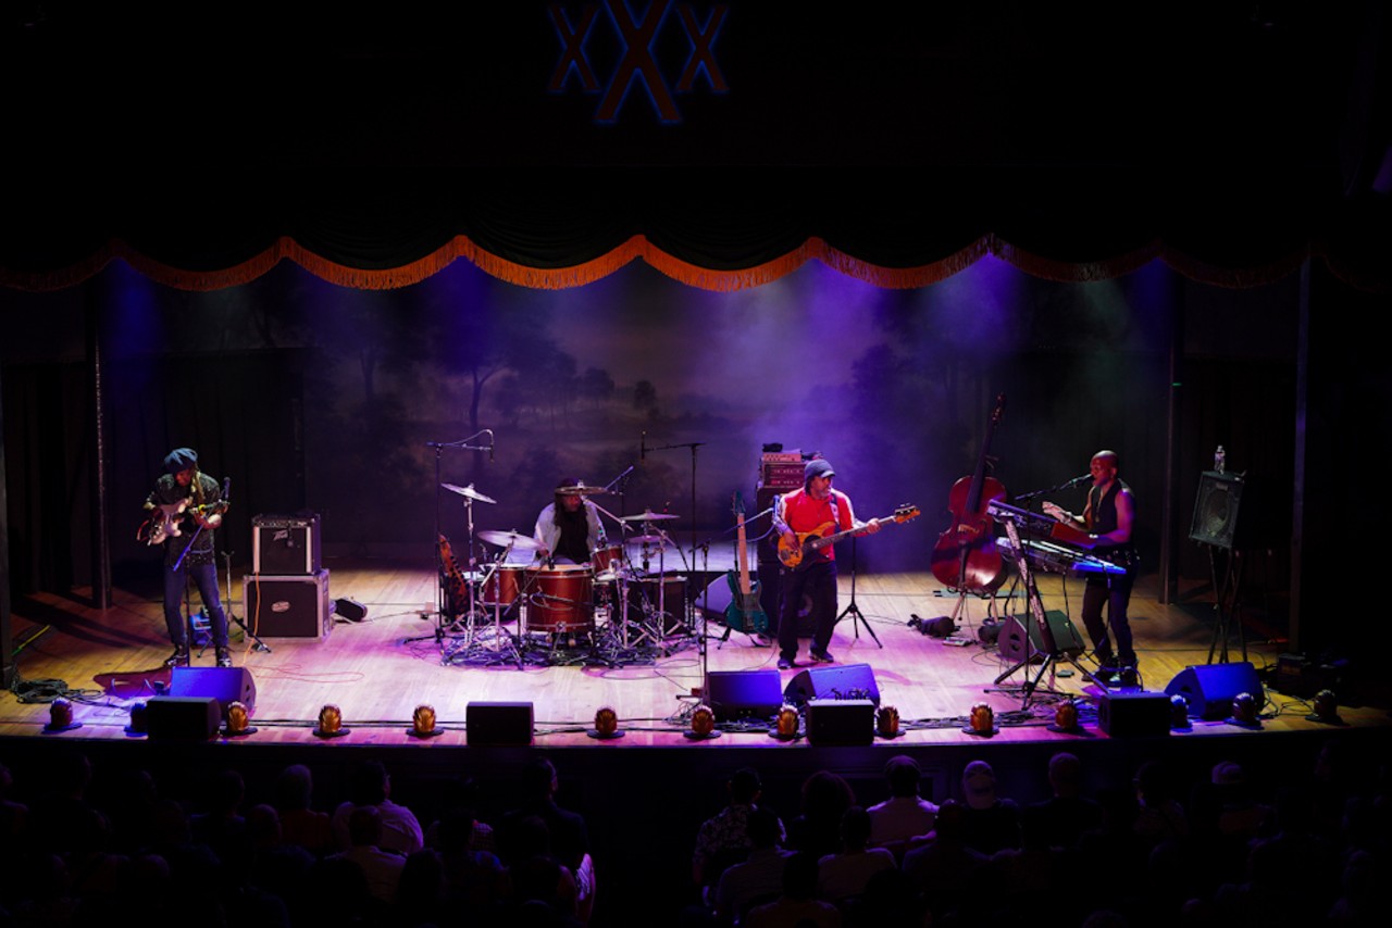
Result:
M164 623L174 644L174 653L164 665L188 666L184 590L192 577L198 586L198 595L207 609L217 666L231 666L232 657L227 648L227 614L223 612L223 601L217 595L217 561L213 544L213 531L223 525L224 506L219 505L223 502L223 493L216 480L198 469L198 452L192 448L175 448L164 456L164 474L155 483L145 508L153 511L161 505L180 502L187 504L182 513L173 516L175 523L182 523L180 534L170 534L164 540Z

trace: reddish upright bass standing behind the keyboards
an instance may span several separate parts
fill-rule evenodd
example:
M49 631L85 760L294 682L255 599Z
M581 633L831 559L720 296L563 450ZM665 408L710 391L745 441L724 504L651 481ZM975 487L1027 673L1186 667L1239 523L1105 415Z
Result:
M986 423L981 454L976 472L962 477L948 493L952 525L938 536L933 547L933 576L938 583L963 593L994 593L1005 580L1005 559L995 550L995 525L986 508L991 501L1005 499L1005 486L987 476L986 463L991 449L991 435L1005 412L1005 394L995 398L995 409Z

